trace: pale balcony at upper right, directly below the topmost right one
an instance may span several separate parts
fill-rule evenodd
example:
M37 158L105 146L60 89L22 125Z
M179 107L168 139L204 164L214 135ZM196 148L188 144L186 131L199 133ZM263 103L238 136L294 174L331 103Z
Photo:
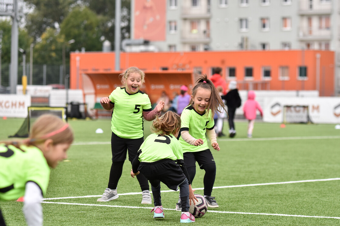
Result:
M332 31L330 28L321 29L319 26L301 26L299 27L297 34L300 41L327 41L332 38Z

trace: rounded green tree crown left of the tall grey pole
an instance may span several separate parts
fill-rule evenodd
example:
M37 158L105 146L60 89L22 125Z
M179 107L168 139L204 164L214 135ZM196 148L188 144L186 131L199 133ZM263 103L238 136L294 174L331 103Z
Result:
M75 40L70 47L73 51L82 47L86 51L101 51L99 23L97 15L88 7L77 7L63 20L60 34L65 36L65 40Z

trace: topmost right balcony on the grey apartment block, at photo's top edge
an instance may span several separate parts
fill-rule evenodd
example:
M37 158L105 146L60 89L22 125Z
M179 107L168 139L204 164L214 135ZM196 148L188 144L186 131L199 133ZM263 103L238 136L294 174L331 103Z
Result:
M299 2L299 15L325 15L332 13L331 1L313 1L300 0Z

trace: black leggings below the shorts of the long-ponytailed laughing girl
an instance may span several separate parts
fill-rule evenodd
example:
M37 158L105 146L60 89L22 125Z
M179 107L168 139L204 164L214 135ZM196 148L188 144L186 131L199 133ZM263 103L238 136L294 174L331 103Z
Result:
M201 169L205 170L203 184L204 184L204 195L211 196L212 187L214 187L215 177L216 177L216 164L203 165ZM196 174L196 166L187 167L189 178L192 181Z

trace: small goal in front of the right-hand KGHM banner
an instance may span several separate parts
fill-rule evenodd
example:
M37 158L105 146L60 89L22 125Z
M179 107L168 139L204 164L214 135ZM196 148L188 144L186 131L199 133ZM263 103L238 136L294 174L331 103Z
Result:
M303 105L283 106L283 123L312 123L309 107Z

